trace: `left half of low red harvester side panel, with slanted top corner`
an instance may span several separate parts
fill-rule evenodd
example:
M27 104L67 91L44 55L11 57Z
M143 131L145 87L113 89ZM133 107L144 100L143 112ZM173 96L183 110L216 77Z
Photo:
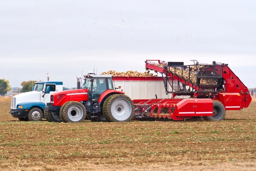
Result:
M195 99L183 99L177 103L176 116L195 116Z

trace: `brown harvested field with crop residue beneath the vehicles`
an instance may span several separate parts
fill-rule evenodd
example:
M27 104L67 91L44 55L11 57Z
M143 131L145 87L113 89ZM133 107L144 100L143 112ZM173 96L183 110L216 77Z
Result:
M256 170L256 101L221 122L20 122L0 99L0 170Z

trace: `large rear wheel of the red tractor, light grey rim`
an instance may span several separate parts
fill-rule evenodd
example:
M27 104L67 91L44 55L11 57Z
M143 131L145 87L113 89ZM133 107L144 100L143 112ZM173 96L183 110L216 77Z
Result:
M102 113L108 122L128 122L134 115L134 104L128 96L114 94L105 100Z

